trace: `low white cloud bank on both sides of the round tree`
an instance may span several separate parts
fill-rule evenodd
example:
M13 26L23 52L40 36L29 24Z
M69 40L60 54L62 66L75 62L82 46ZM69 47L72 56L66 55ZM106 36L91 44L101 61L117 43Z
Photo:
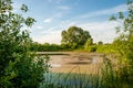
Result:
M70 23L71 24L71 23ZM39 43L61 43L61 32L62 30L65 30L69 28L70 24L65 24L62 26L53 26L49 30L45 30L41 32L40 37L35 38ZM81 23L75 24L79 28L82 28L83 30L86 30L90 32L92 38L94 40L94 43L102 41L104 43L111 43L114 37L116 37L115 34L115 26L119 25L117 22L90 22L90 23ZM59 30L61 29L61 30Z

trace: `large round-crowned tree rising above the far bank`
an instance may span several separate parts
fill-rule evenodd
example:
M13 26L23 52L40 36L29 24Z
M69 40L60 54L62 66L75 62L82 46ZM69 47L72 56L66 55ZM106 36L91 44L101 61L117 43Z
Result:
M91 35L88 31L83 31L81 28L71 26L68 31L62 31L62 44L68 44L72 48L76 48L81 45L84 45L85 42L91 38Z

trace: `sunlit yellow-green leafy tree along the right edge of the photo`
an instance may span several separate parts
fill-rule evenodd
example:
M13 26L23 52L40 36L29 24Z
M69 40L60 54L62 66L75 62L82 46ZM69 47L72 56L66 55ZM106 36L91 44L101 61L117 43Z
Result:
M120 54L122 70L120 76L125 81L133 81L133 1L127 0L127 15L119 12L119 16L110 20L123 22L122 26L116 26L120 36L114 41L114 46ZM120 64L120 65L121 65Z

